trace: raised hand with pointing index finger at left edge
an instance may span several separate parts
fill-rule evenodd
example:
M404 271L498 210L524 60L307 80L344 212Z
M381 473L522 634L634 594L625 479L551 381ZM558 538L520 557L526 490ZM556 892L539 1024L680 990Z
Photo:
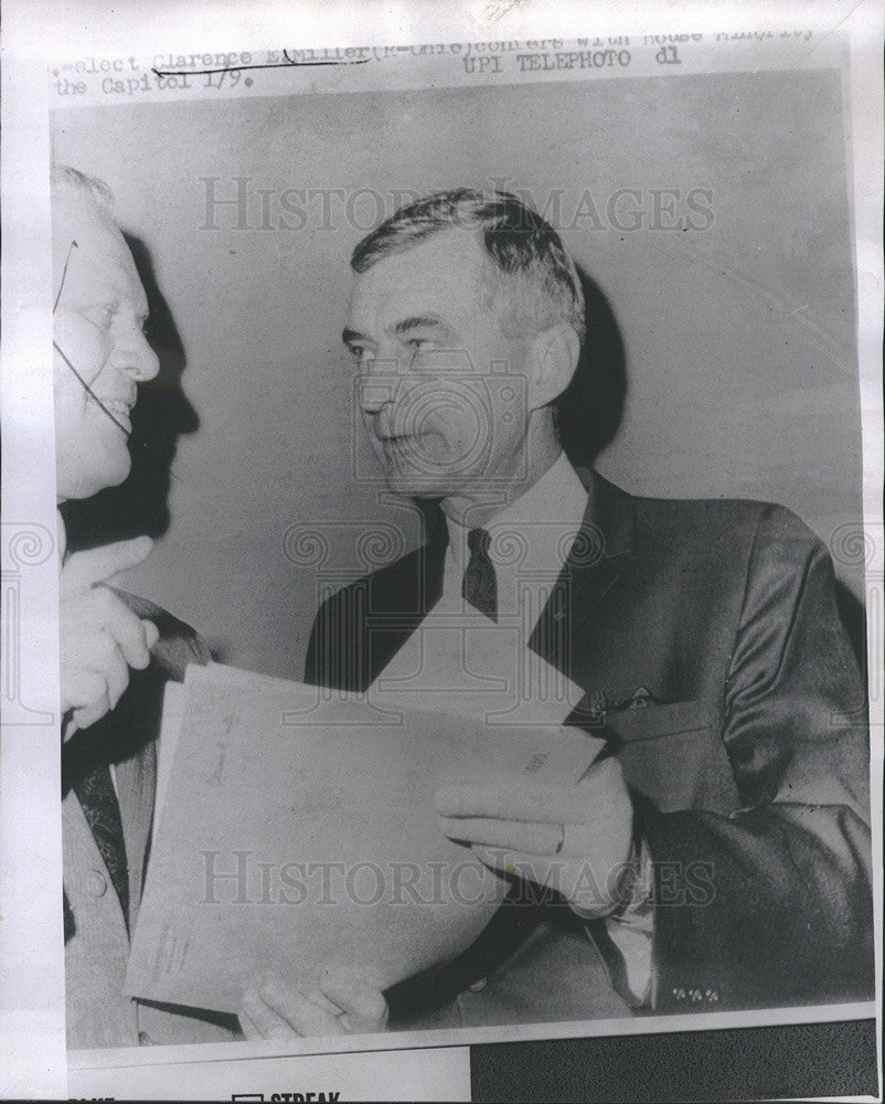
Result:
M148 558L153 541L137 537L88 552L62 566L60 650L62 713L74 710L64 733L95 724L114 709L129 684L129 668L142 670L157 643L157 626L141 620L103 583Z

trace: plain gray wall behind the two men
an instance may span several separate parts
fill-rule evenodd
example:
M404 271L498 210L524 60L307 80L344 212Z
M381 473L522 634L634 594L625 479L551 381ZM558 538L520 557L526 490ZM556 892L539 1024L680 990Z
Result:
M360 189L385 215L397 190L507 180L540 206L559 190L557 229L626 348L625 415L600 471L636 493L781 502L825 542L835 534L836 551L839 528L862 518L834 71L83 108L56 113L53 148L110 184L147 246L199 418L178 443L168 531L126 585L226 662L300 677L317 582L292 562L294 524L326 532L323 571L342 583L362 573L361 522L417 542L414 516L366 478L377 471L340 342L349 256L376 221ZM205 229L207 177L217 198L248 178L245 229L233 208ZM623 188L640 197L621 201L620 221L641 209L639 229L608 217ZM275 229L260 229L258 189ZM281 229L286 189L331 190L329 217L314 198L303 227ZM708 190L712 224L652 229L654 189L679 192L668 225L691 214L689 192ZM575 221L583 193L601 226ZM861 565L836 559L862 594Z

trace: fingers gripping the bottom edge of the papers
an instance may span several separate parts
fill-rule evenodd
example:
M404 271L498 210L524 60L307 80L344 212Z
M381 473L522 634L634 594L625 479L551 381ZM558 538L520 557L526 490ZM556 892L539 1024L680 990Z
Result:
M247 1039L299 1039L383 1031L387 1012L377 989L327 970L303 990L264 975L245 990L237 1015Z

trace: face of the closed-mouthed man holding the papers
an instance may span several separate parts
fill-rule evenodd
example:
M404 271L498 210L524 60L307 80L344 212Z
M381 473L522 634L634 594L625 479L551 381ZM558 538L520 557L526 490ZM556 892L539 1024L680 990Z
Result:
M355 278L343 338L398 493L446 498L522 475L527 343L501 332L486 264L476 234L452 229Z

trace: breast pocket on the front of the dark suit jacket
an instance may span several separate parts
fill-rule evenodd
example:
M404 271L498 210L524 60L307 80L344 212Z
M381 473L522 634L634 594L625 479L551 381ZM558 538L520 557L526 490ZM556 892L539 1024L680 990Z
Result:
M662 813L739 807L732 766L722 741L722 720L708 702L678 701L607 713L627 784Z

